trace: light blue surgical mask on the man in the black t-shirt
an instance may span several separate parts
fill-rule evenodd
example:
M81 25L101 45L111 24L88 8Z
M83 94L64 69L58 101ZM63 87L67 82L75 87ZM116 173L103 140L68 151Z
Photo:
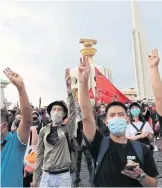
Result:
M108 128L111 134L121 136L125 133L127 128L127 121L125 119L115 117L108 121Z

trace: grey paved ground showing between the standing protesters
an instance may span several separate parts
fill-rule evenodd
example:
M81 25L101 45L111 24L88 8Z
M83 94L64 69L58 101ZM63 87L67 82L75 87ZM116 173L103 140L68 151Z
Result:
M161 176L161 178L158 179L158 187L162 187L162 138L160 140L157 140L156 144L157 144L157 148L159 151L154 152L154 159L155 159L159 174ZM161 160L161 161L158 162L158 160ZM73 179L74 179L74 174L73 174ZM84 157L82 160L81 180L82 181L80 182L80 185L79 185L80 187L90 187L90 183L88 182L89 174L88 174L88 169L87 169L87 165L84 160Z

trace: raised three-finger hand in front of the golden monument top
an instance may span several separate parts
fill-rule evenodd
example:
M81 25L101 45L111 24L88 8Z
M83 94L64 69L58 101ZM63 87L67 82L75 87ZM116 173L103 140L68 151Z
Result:
M80 58L80 65L78 68L78 78L80 83L87 83L89 80L89 75L91 72L91 66L88 61L88 58Z

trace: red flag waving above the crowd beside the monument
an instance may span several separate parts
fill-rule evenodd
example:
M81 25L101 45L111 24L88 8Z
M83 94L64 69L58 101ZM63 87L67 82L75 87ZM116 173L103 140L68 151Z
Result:
M125 103L130 101L123 93L121 93L96 67L96 96L101 102L110 103L113 100Z

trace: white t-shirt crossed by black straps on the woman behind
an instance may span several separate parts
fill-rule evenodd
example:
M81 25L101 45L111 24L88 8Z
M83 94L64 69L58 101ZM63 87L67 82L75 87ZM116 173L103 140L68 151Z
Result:
M139 121L138 123L133 122L133 124L137 127L137 129L140 130L143 122L141 122L141 121ZM150 124L147 121L145 122L142 132L151 133L151 134L154 133L152 127L150 126ZM125 134L126 134L126 137L127 136L136 136L137 130L133 127L133 125L129 124L127 126Z

